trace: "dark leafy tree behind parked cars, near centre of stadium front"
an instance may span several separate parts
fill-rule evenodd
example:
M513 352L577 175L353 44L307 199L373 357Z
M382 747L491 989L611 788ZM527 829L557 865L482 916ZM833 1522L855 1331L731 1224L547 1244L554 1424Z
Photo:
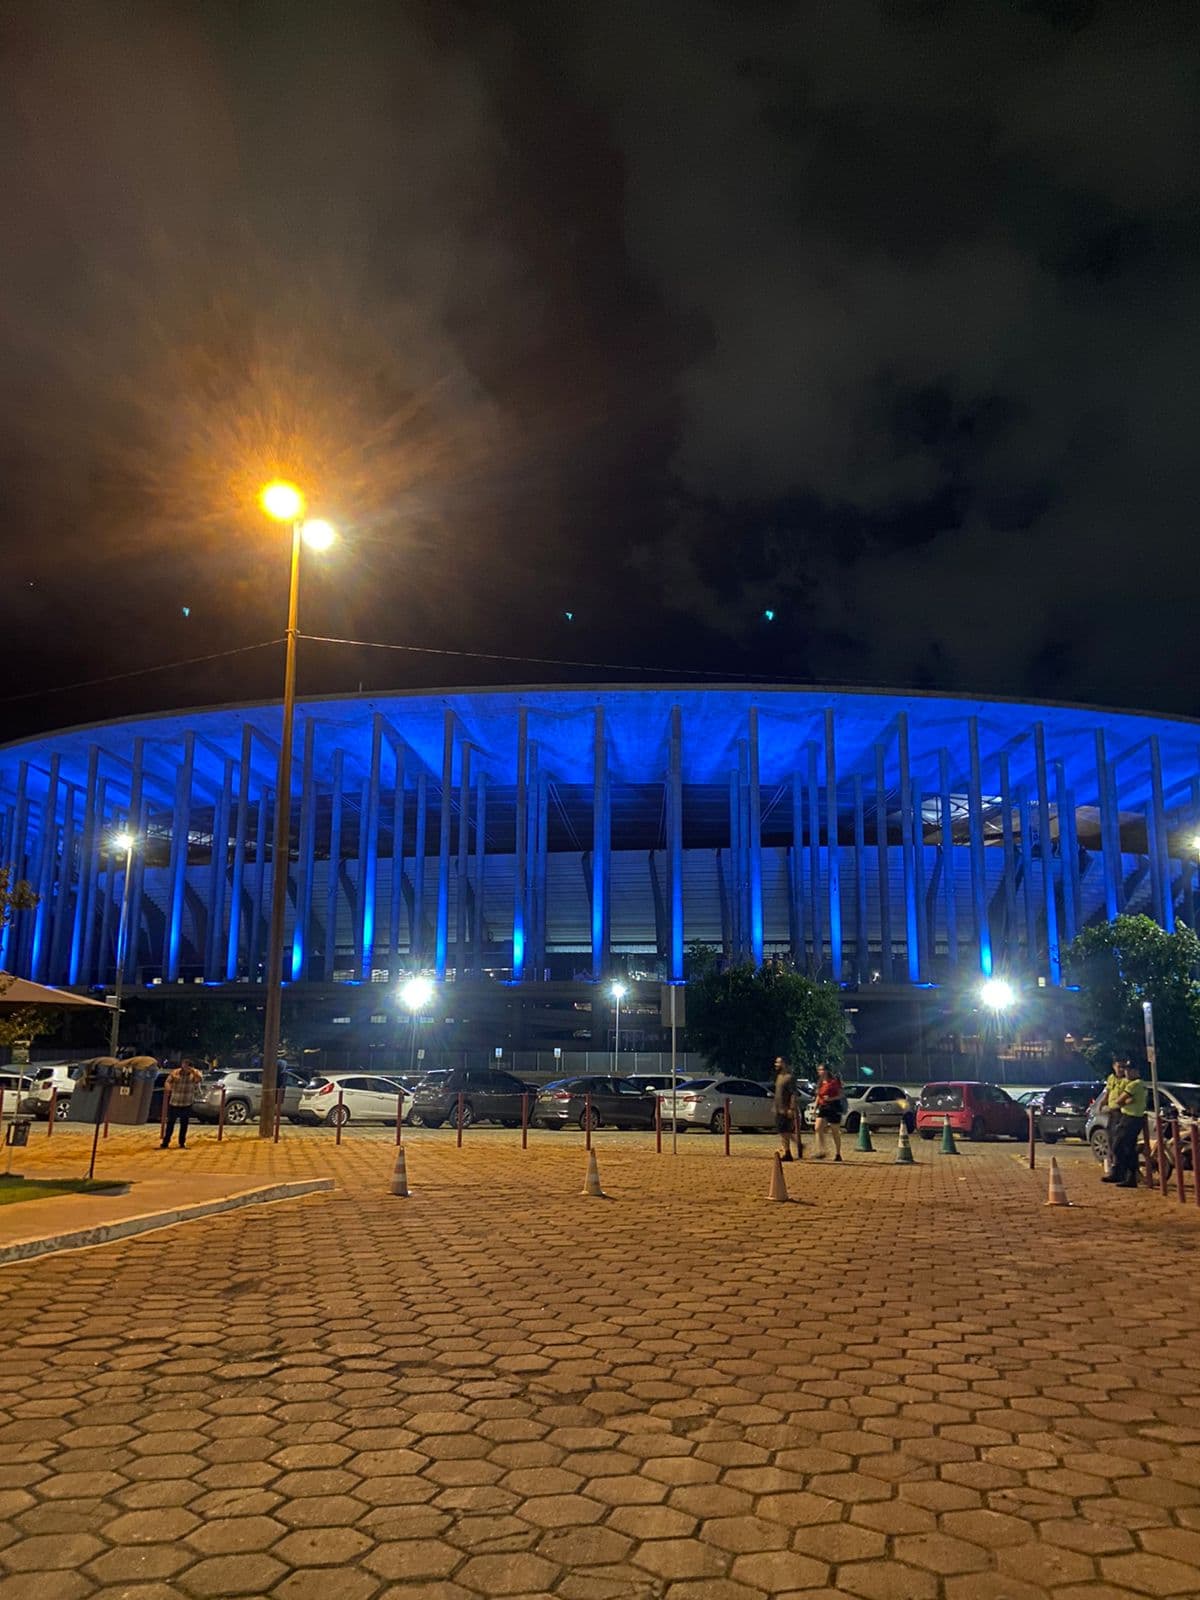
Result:
M715 950L694 947L688 966L688 1045L717 1072L766 1078L784 1056L811 1077L818 1062L842 1061L846 1019L834 984L778 963L722 968Z

